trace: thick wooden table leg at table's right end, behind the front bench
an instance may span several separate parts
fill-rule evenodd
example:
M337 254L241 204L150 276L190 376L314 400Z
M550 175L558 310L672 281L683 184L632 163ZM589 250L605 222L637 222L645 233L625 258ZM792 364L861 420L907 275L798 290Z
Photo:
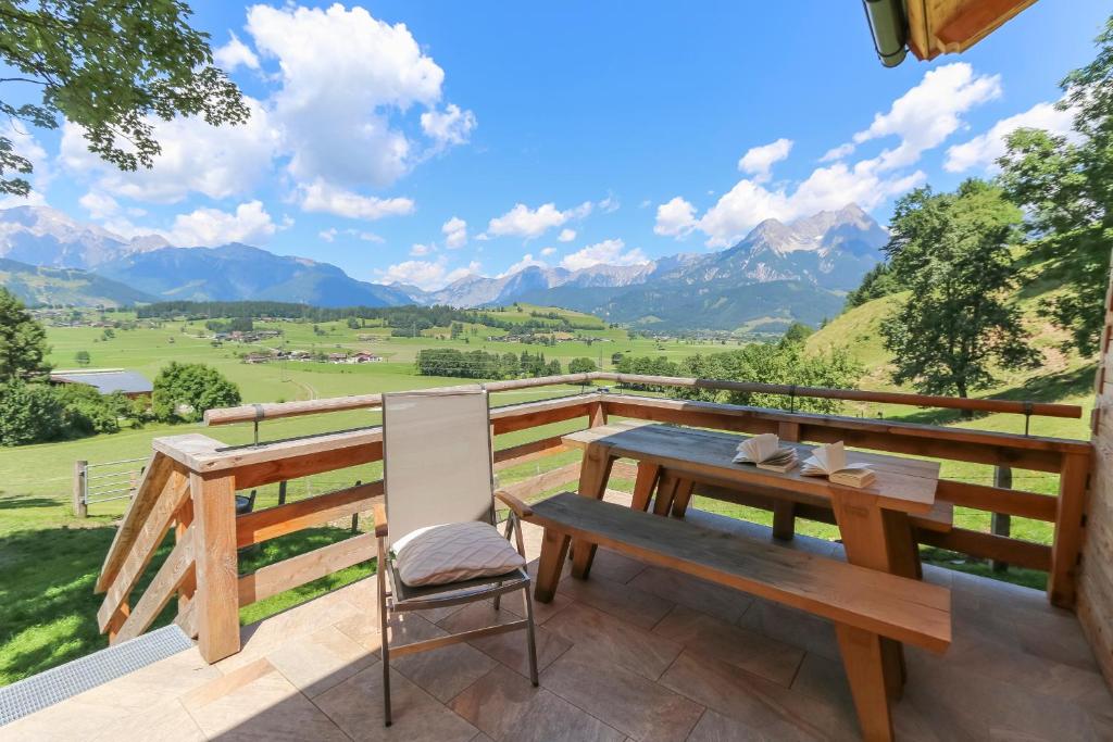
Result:
M839 492L831 498L831 505L843 535L847 562L915 578L916 567L910 552L915 542L906 513L881 509L877 506L877 498L868 493ZM897 700L907 676L904 649L899 642L881 639L881 655L889 698Z

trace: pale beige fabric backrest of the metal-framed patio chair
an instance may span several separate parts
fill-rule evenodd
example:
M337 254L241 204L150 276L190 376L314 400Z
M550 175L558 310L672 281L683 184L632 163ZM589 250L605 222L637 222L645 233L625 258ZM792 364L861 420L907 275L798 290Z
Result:
M491 522L491 416L480 387L383 395L388 542L431 525Z

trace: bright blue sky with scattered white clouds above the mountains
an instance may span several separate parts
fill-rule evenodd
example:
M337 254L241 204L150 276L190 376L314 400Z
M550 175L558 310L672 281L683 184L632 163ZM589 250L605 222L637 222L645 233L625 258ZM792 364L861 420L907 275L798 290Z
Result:
M126 235L239 240L425 288L523 261L718 249L766 217L985 175L1110 11L1042 0L969 52L883 68L857 2L194 2L250 97L121 175L80 131L17 147L35 200ZM236 41L234 41L234 37Z

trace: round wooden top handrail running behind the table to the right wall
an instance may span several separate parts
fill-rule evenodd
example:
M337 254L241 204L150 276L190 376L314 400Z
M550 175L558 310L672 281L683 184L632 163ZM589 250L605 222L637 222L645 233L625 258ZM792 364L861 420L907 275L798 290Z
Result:
M646 376L642 374L613 374L597 372L597 380L639 386L673 386L722 392L745 392L749 394L777 394L786 397L815 397L819 399L843 399L845 402L875 402L912 407L939 407L945 409L968 409L985 413L1008 413L1038 417L1082 417L1078 405L1061 405L1045 402L1016 402L1013 399L974 399L969 397L944 397L930 394L905 392L867 392L865 389L831 389L818 386L796 386L795 384L759 384L756 382L728 382L711 378L689 378L684 376Z

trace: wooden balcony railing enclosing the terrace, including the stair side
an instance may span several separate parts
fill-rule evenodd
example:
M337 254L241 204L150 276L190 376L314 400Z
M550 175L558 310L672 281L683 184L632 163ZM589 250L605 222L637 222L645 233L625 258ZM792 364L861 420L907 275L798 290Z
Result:
M601 379L653 385L711 384L698 379L575 374L500 382L487 385L487 388L503 390L552 384L588 385ZM707 388L739 389L736 383L716 384L723 386ZM770 390L770 385L745 386L745 390ZM836 396L837 393L840 395L838 398L863 398L860 395L875 394L799 388L795 393L798 396ZM976 402L979 405L977 409L986 409L984 405L988 402L958 400L963 403L958 405L952 404L955 400L943 398L947 400L944 405L932 402L938 398L920 395L880 396L884 399L871 397L871 400L959 408ZM380 403L378 395L364 395L211 410L206 418L210 424L257 422L373 407ZM1081 416L1081 409L1065 405L1036 406L996 400L993 404L999 405L994 407L996 412ZM560 436L543 432L539 439L502 449L498 449L498 436L574 419L583 419L587 426L597 426L604 424L608 416L731 432L774 432L786 439L802 442L845 441L848 446L875 451L1055 473L1060 479L1057 497L953 479L943 479L939 486L939 497L955 505L1053 524L1054 541L1051 546L958 527L949 532L920 531L917 535L925 544L1046 571L1051 601L1066 607L1074 604L1082 516L1092 456L1087 442L591 390L493 408L495 467L540 459L565 449ZM136 497L97 581L97 591L105 593L98 622L110 641L118 642L142 633L177 596L177 622L187 633L198 637L204 656L215 662L239 650L239 607L373 558L373 536L359 534L242 575L238 572L237 548L371 511L382 497L381 481L238 517L234 495L237 491L381 461L382 428L367 427L248 446L228 446L205 435L189 434L157 438L154 447ZM579 463L560 466L510 488L520 497L529 497L574 482L579 477ZM632 467L620 466L613 476L633 478ZM760 494L702 489L721 499L774 509L776 527L778 513L771 502ZM700 493L701 488L697 487L697 494ZM797 505L789 517L834 522L824 508L804 505ZM132 604L131 593L170 528L175 530L175 546L146 591Z

